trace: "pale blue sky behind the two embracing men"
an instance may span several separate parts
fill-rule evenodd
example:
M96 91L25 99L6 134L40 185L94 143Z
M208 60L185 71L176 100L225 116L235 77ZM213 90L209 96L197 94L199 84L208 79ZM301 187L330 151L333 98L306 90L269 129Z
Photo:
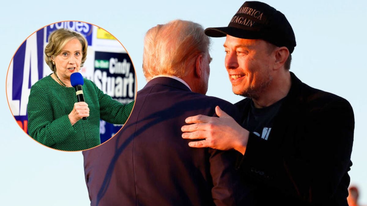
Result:
M203 27L226 26L244 1L6 1L0 19L2 84L0 106L0 205L88 205L81 152L51 150L34 142L19 128L6 100L6 71L21 43L37 29L66 20L86 21L112 33L130 54L137 70L138 89L145 85L141 71L143 37L157 24L190 20ZM291 71L306 84L349 100L355 112L351 184L360 187L367 203L366 135L366 13L365 1L266 0L286 15L297 47ZM211 76L207 95L235 103L224 68L225 38L212 39ZM338 111L335 111L338 112ZM335 140L337 141L337 140Z

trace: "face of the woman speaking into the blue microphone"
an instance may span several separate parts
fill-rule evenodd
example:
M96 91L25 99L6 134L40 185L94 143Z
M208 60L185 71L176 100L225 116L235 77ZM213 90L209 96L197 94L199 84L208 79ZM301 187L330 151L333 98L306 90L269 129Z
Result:
M57 76L70 80L70 75L79 72L81 58L83 57L80 41L73 38L61 49L60 54L51 58L55 62Z

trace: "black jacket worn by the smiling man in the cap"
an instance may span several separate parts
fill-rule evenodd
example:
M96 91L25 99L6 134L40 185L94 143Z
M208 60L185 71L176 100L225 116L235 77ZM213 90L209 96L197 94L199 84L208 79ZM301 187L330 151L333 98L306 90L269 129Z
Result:
M268 140L251 133L240 168L248 182L258 185L257 205L347 206L352 107L337 95L302 83L293 73L291 80ZM242 122L250 102L246 98L236 103Z

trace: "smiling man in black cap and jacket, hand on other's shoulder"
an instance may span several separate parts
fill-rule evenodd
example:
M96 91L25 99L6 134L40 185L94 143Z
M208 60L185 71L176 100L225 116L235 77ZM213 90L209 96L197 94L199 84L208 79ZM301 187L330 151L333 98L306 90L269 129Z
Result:
M239 151L237 168L244 184L258 187L257 205L347 206L353 110L347 100L289 71L296 42L286 17L247 1L228 27L205 33L226 36L232 90L247 98L236 104L239 124L219 107L219 118L188 117L182 137L200 139L189 146Z

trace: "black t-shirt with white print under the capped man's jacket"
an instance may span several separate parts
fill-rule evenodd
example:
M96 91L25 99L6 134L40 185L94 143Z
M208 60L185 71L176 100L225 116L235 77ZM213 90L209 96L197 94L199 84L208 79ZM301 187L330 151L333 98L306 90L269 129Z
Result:
M254 102L251 100L251 108L248 111L247 118L243 122L244 128L262 139L268 140L274 117L278 113L282 103L283 99L269 107L256 108Z

